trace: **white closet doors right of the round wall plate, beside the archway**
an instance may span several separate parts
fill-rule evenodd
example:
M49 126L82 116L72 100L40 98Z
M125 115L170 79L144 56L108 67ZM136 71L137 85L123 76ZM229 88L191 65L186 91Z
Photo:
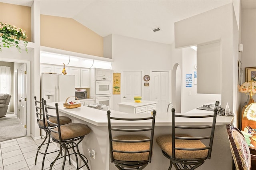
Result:
M169 72L153 71L150 75L150 101L157 101L157 113L166 113L170 98Z

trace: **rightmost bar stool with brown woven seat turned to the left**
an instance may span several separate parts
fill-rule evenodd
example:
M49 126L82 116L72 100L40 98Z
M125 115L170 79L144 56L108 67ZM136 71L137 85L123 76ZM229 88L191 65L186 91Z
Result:
M172 108L172 134L164 134L156 138L162 153L170 159L168 170L172 168L172 165L176 170L194 170L201 166L204 160L211 158L216 116L217 109L214 109L211 114L196 116L175 114L175 109ZM205 123L205 125L176 125L176 117L186 119L186 121L188 119L198 121L199 119L212 118L212 121ZM176 134L177 128L182 129L185 133L194 132L196 135Z

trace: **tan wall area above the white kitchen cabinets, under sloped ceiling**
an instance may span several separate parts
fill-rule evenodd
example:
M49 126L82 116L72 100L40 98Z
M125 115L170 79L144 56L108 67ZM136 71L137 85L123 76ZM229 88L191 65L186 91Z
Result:
M72 18L40 15L40 45L103 57L103 38Z

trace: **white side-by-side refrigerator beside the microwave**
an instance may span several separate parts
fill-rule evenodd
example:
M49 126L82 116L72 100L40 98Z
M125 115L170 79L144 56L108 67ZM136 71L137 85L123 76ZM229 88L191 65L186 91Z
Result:
M74 100L75 75L41 74L41 98L49 102L65 102L68 97Z

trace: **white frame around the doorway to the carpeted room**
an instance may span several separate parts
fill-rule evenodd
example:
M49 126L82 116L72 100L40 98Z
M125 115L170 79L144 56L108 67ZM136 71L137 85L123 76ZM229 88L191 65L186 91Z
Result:
M21 59L12 59L12 58L3 58L3 57L1 57L0 58L0 61L6 61L6 62L13 62L13 63L24 63L24 64L26 64L27 65L27 73L29 73L29 74L27 74L27 89L26 89L26 91L27 91L27 118L26 118L26 122L27 122L27 125L26 125L26 127L27 127L27 132L26 132L26 136L30 136L30 131L31 131L31 125L30 125L30 117L31 117L31 115L30 115L30 113L31 113L31 111L30 111L30 104L31 104L31 99L30 99L30 73L31 73L31 69L30 69L30 63L31 63L31 61L28 61L28 60L21 60Z

